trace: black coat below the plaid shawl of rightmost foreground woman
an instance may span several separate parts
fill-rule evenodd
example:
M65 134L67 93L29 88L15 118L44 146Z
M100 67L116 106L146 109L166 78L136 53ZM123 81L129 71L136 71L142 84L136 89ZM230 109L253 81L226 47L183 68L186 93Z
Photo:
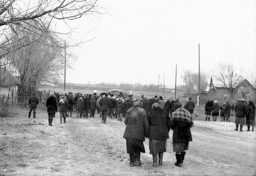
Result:
M173 132L173 142L190 142L192 135L190 131L191 124L183 121L173 121L170 128Z

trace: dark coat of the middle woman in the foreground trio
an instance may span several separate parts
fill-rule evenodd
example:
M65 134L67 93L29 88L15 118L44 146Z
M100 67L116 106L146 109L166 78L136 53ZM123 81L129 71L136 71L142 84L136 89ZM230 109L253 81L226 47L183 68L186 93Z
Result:
M170 131L170 117L168 112L161 108L151 110L147 114L150 133L148 139L167 139Z

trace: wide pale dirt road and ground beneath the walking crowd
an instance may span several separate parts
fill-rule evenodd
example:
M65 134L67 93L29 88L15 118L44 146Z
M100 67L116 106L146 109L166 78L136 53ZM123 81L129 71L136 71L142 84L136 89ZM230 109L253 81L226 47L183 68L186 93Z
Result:
M182 167L174 165L172 134L163 166L152 167L148 139L142 165L129 167L124 122L109 118L59 118L46 112L0 119L0 175L256 175L256 133L234 131L233 122L195 121ZM6 135L3 135L6 134Z

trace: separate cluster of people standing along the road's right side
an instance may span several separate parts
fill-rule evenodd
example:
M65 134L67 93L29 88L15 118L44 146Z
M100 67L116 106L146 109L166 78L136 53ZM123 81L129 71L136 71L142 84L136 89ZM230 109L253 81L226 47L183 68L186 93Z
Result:
M219 113L220 112L220 113ZM246 100L234 99L232 105L227 99L222 103L218 104L217 100L208 100L205 105L205 121L210 121L210 116L212 115L213 121L217 120L217 117L221 117L221 121L230 122L230 114L234 115L236 118L234 123L236 123L236 131L238 131L238 126L240 124L240 132L243 132L243 125L247 125L247 131L250 131L250 125L252 126L251 131L254 131L255 125L255 105L252 101L248 104Z

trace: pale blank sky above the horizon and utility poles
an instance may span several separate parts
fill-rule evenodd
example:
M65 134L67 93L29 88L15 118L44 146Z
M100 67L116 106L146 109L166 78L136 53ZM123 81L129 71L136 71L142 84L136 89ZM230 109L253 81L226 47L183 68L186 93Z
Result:
M77 55L66 83L182 85L185 70L216 74L232 64L256 75L256 3L252 0L101 1L108 14L75 20ZM101 3L100 2L100 3ZM246 76L247 75L247 76ZM159 80L160 77L160 80Z

